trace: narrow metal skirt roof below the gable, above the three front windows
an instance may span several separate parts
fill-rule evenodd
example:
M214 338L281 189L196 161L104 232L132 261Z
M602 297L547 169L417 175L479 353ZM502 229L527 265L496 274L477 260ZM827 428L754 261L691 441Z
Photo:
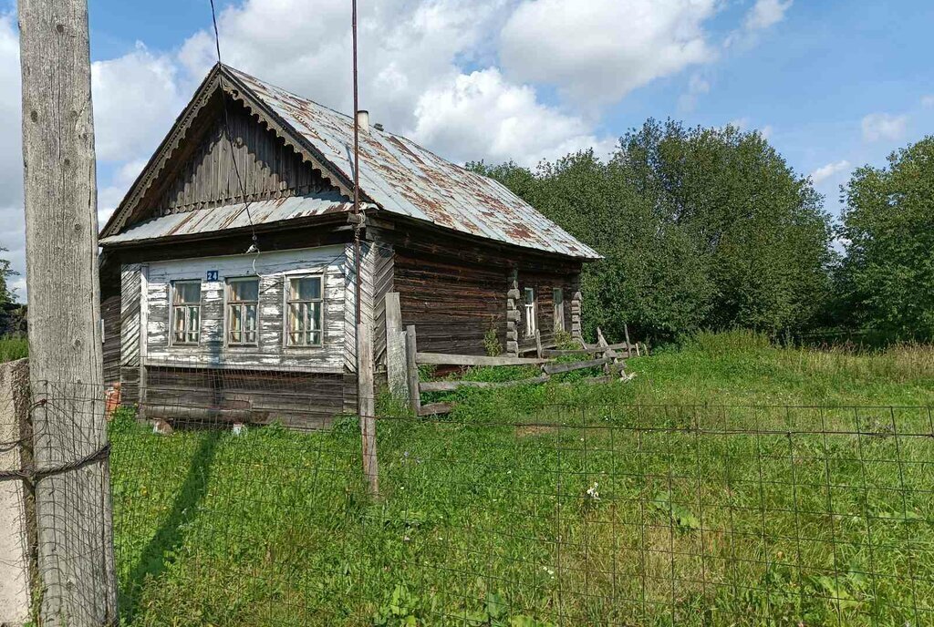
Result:
M365 205L362 205L365 208ZM134 224L117 235L101 239L100 244L125 244L163 237L211 233L219 230L244 229L250 225L271 224L303 217L322 216L353 210L353 203L339 195L292 196L273 201L227 204L210 209L198 209L181 214L154 217Z

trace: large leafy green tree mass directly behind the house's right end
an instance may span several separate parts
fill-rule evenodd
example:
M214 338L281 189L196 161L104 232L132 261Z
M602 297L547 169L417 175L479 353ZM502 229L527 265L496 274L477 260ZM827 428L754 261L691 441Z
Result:
M591 330L778 332L807 326L828 293L822 198L757 132L650 119L607 162L585 151L534 172L470 167L605 257L583 277Z

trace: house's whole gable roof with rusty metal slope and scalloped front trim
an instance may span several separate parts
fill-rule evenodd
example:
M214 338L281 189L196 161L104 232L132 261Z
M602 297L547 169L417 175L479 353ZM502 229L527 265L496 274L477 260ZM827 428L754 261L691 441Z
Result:
M195 94L189 109L204 104L217 88L227 91L248 110L259 116L270 129L283 137L312 167L347 194L353 178L353 118L284 91L226 65L216 65ZM206 93L204 93L206 92ZM150 160L146 170L161 169L157 160L173 134L181 141L184 133L178 126L191 122L187 109L179 116L176 128ZM474 174L443 160L414 142L374 127L360 133L360 187L363 202L372 202L379 211L431 222L461 233L514 244L538 251L573 258L596 259L601 256L574 238L557 224L536 211L529 203L502 184ZM163 155L167 159L169 154ZM127 198L108 221L102 243L123 230L134 201L138 202L149 182L143 174L134 183ZM204 210L199 210L204 211Z

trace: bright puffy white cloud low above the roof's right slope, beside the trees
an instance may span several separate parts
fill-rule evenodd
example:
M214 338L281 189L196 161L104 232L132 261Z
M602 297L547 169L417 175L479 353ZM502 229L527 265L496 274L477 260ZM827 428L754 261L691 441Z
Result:
M582 118L538 103L535 91L508 83L496 68L426 92L416 116L413 139L460 161L483 157L533 165L590 146L602 156L613 147L590 134ZM478 123L483 132L477 132Z

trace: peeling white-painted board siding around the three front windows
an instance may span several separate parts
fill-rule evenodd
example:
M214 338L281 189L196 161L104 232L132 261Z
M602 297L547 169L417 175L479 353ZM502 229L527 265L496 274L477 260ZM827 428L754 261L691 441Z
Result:
M344 312L346 257L343 246L325 246L262 253L256 259L260 274L259 341L256 346L228 346L224 341L226 279L252 276L252 255L190 258L149 264L146 328L146 365L153 367L227 367L290 369L305 372L344 372ZM209 270L217 281L206 281ZM324 277L324 340L320 347L286 347L284 285L287 276ZM172 281L202 282L201 341L196 346L171 345L169 293Z

